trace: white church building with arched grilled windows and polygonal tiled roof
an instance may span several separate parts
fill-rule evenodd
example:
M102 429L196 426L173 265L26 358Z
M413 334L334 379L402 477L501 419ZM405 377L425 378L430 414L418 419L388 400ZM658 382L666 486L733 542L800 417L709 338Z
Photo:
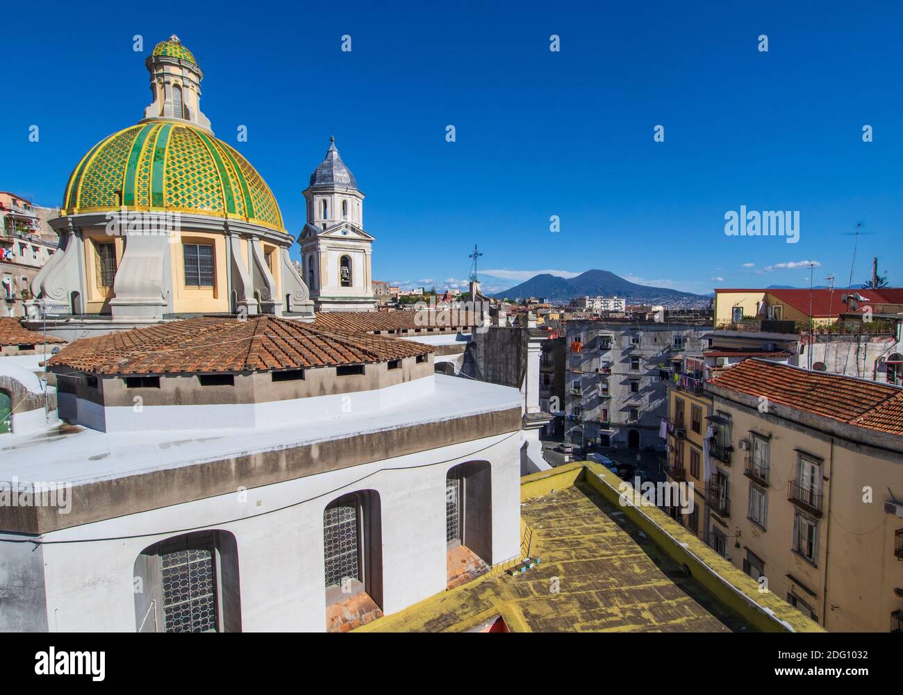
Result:
M519 557L521 396L432 352L267 315L64 347L64 422L0 435L0 631L339 632Z

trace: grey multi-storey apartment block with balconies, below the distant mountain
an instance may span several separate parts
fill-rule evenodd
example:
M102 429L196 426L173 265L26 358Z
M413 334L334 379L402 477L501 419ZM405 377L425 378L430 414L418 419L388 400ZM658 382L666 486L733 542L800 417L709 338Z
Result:
M565 440L584 448L664 449L668 365L703 355L706 322L567 323Z

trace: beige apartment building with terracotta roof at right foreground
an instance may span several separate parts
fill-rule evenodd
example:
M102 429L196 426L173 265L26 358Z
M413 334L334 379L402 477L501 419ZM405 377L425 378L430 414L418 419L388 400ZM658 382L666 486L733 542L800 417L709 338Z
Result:
M899 631L903 388L753 357L705 391L707 542L828 630Z

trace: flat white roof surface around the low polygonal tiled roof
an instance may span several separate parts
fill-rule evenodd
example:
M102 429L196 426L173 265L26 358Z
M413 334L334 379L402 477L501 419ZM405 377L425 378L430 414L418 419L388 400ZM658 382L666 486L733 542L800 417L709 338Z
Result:
M435 391L379 412L292 422L271 428L101 432L68 426L40 434L0 435L0 481L82 484L179 468L246 454L290 449L358 434L517 408L520 392L435 375Z

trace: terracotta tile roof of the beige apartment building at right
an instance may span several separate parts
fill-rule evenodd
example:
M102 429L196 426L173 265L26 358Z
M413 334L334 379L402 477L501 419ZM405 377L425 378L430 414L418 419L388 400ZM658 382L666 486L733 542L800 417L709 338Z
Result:
M903 436L903 387L750 358L709 382L840 422Z

